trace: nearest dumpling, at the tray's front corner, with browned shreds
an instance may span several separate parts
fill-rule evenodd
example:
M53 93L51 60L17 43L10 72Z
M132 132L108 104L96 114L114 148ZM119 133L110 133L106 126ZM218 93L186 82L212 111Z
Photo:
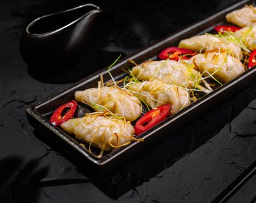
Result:
M128 145L133 138L134 128L130 122L89 114L83 118L70 119L61 128L75 134L79 140L105 151Z

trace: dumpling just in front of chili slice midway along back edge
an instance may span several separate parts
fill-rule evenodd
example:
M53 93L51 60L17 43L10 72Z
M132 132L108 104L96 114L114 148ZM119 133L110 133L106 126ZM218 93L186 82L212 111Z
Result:
M169 85L180 87L200 87L201 74L195 70L193 63L179 63L176 60L150 60L133 67L131 74L142 81L158 80ZM207 91L205 89L206 93Z

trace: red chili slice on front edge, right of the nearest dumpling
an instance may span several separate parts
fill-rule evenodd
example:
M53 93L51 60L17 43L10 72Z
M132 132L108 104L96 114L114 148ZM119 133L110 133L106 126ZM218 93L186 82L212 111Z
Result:
M139 118L135 124L135 134L140 135L146 132L150 128L156 126L156 124L162 122L166 119L168 113L170 112L170 104L160 106L154 110L150 110L144 116Z

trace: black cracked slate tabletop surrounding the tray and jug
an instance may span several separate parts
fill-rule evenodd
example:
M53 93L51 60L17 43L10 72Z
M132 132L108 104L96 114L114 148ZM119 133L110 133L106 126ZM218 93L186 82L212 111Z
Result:
M237 1L0 1L0 202L211 202L256 161L256 84L142 151L105 177L87 175L40 138L25 109ZM19 52L35 17L102 7L90 51L73 69L33 71ZM230 202L255 200L255 175ZM250 194L248 196L247 194ZM247 198L243 198L243 196Z

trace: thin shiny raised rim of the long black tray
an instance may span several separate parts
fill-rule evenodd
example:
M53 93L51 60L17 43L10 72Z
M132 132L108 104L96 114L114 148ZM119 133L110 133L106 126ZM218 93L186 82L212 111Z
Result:
M196 28L199 25L210 22L212 19L214 19L218 15L222 15L223 13L227 13L228 11L232 11L236 7L240 7L240 6L245 5L246 3L250 3L250 2L253 3L253 1L251 1L251 0L243 0L241 2L235 3L234 5L231 5L230 7L227 7L226 9L223 9L222 11L219 11L218 13L215 13L214 15L211 15L210 17L207 17L206 19L203 19L199 22L195 22L195 24L192 24L191 26L187 26L187 28L183 28L182 30L178 30L177 32L174 32L173 34L170 34L170 36L168 36L168 37L166 37L162 40L161 39L158 40L158 42L156 42L155 44L152 44L151 46L148 46L147 48L143 48L142 50L139 50L137 53L135 53L131 56L126 56L125 58L122 58L122 60L120 60L119 63L114 65L110 70L117 69L117 67L120 67L121 65L124 65L125 63L127 63L127 60L129 58L136 58L140 55L143 55L146 52L148 52L148 51L150 51L154 48L157 48L161 44L164 44L164 42L169 42L172 39L176 38L177 36L180 36L184 33L189 32L189 30L191 30L192 28ZM208 28L210 28L210 27L211 26L209 26ZM201 30L201 32L203 32L203 31L204 30ZM49 130L51 130L53 133L55 133L57 136L59 136L59 138L62 138L67 144L69 144L71 147L73 147L74 149L79 151L79 153L84 155L84 157L86 157L87 159L92 161L92 163L94 163L98 166L102 166L102 165L106 165L106 163L110 163L116 157L118 157L120 153L125 153L126 151L129 151L131 148L133 148L135 145L140 145L141 143L136 143L135 142L135 143L131 143L131 145L128 145L124 148L121 148L121 150L117 149L117 150L113 151L113 152L115 152L114 155L109 157L108 159L106 159L106 158L102 159L104 157L97 158L94 155L91 155L90 153L85 151L84 148L81 147L80 145L77 145L75 140L73 140L67 133L63 132L62 130L60 130L56 126L53 126L48 120L46 120L46 118L41 116L41 114L39 114L36 111L36 109L43 106L44 103L46 103L47 101L50 102L53 99L57 99L58 97L61 97L62 95L65 95L65 93L67 93L67 91L70 91L73 88L77 88L79 86L85 85L86 83L89 83L90 81L94 81L95 79L98 79L99 73L100 74L106 74L107 72L108 71L107 71L106 67L103 68L103 69L100 69L99 71L96 71L92 75L89 75L88 77L85 77L84 79L81 79L81 80L69 85L68 87L65 87L61 91L57 91L56 93L53 93L53 94L51 94L47 97L44 97L43 99L40 99L39 101L36 101L35 103L28 106L28 108L26 108L26 112L30 116L32 116L32 118L36 119L38 122L40 122L40 124L42 124L46 128L49 128ZM205 103L205 101L210 101L210 99L212 99L213 97L216 97L216 95L227 91L227 89L232 87L232 85L234 85L235 83L239 83L239 82L243 81L245 78L247 78L248 76L255 75L255 73L256 73L255 68L249 69L249 70L245 71L245 73L243 73L242 75L240 75L240 76L236 77L235 79L232 79L228 83L225 83L224 85L222 85L221 88L218 88L218 89L212 91L211 93L208 93L207 95L204 95L202 98L193 102L193 104L189 105L187 108L184 108L183 110L179 111L177 114L174 114L174 116L170 117L171 119L170 118L166 119L164 122L161 123L161 126L156 126L156 127L152 128L151 130L149 130L149 132L147 132L146 134L143 134L143 139L146 140L146 139L150 138L159 129L166 128L167 126L170 126L172 124L172 122L176 122L177 120L182 118L185 114L187 114L190 110L194 110L196 108L199 108L199 106L203 105ZM117 151L119 151L119 152L117 152Z

